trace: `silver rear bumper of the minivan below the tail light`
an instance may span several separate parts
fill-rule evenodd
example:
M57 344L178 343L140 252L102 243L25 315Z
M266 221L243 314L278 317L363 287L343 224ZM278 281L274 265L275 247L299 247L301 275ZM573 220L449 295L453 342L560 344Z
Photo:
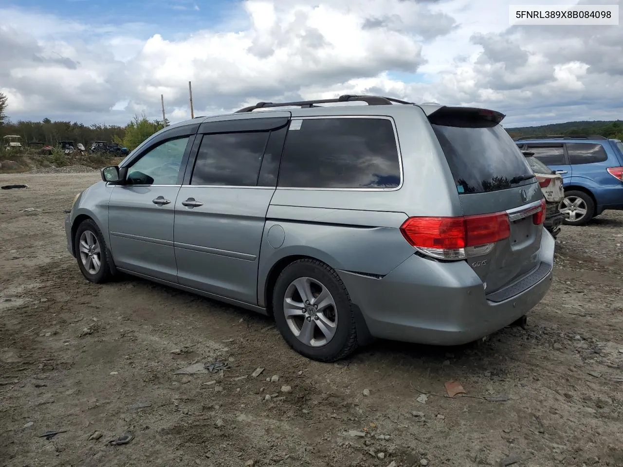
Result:
M382 279L346 271L340 276L372 336L450 346L495 333L534 308L552 279L554 239L546 231L540 260L541 279L497 303L487 300L482 281L466 262L412 255Z

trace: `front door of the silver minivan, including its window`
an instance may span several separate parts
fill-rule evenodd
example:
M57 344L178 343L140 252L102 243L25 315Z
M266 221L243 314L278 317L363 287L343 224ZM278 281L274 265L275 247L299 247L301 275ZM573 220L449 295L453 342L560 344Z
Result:
M148 149L115 186L108 209L110 248L123 270L177 282L173 219L183 156L191 136Z

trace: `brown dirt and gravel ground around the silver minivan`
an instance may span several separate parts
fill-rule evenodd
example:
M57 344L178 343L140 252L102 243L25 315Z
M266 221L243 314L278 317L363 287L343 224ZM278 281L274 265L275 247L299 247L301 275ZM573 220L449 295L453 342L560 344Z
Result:
M263 316L133 278L87 283L63 210L97 179L0 175L30 186L0 192L0 465L623 466L622 214L563 227L526 329L320 364ZM174 374L216 361L227 369ZM450 380L468 397L444 397Z

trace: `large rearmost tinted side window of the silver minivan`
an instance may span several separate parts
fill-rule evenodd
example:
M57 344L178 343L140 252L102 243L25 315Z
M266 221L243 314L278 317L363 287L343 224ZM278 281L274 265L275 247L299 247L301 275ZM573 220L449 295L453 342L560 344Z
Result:
M395 188L400 163L386 118L308 118L290 123L278 186Z

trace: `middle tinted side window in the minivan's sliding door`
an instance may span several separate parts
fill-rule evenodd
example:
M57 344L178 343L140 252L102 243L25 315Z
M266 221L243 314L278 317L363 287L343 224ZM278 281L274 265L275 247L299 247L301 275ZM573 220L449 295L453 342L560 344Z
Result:
M191 185L256 186L268 131L204 134Z

